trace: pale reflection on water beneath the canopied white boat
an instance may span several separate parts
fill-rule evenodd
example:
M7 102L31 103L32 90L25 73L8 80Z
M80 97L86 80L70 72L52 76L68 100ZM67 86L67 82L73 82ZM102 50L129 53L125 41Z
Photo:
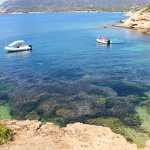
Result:
M16 52L7 52L6 53L6 56L7 57L13 57L13 56L26 56L28 55L29 53L31 53L32 50L27 50L27 51L16 51Z

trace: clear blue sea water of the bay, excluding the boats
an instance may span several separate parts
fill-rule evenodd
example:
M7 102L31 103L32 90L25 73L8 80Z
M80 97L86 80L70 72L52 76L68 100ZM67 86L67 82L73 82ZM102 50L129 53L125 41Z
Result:
M109 26L123 13L0 16L0 117L110 127L149 139L150 38ZM114 44L98 44L106 36ZM32 51L7 53L25 40ZM141 137L143 137L141 139Z

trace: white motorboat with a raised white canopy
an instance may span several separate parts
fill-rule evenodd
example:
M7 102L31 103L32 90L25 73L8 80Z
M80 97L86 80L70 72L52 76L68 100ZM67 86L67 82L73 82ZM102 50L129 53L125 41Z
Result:
M23 43L23 44L21 44ZM17 46L14 46L16 45ZM9 44L7 47L5 47L8 51L25 51L25 50L32 50L32 45L24 45L23 40L14 41L13 43Z

